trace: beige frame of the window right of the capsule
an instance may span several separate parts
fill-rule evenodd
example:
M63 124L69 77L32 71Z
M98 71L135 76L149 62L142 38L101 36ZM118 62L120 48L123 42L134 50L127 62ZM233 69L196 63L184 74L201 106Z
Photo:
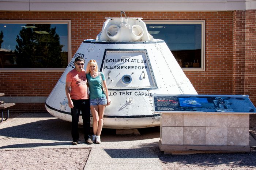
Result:
M183 71L205 71L205 20L143 20L147 24L201 24L201 67L184 68Z

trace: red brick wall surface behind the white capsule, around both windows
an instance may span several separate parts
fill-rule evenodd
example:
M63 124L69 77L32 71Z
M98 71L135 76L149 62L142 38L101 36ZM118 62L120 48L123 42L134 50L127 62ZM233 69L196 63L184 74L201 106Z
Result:
M142 17L143 20L206 20L206 71L185 72L196 91L198 94L256 95L252 87L254 80L251 80L251 74L244 74L244 69L251 73L255 68L252 62L253 56L255 57L255 35L253 36L253 28L247 29L250 23L255 23L255 11L126 12L126 15ZM72 55L84 39L95 39L102 29L105 17L119 16L120 12L0 12L0 19L5 20L71 20ZM245 47L244 35L246 40L248 39ZM254 55L251 55L253 45ZM245 52L248 49L250 52ZM0 72L0 91L4 92L5 96L48 96L61 74ZM256 102L254 98L253 102ZM30 106L33 106L33 103L26 106L27 110L31 111ZM46 111L41 109L38 106L38 112Z

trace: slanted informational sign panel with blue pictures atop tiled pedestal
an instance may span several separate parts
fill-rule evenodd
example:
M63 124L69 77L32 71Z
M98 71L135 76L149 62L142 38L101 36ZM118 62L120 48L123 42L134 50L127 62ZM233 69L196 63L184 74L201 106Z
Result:
M247 95L153 95L155 112L256 112Z

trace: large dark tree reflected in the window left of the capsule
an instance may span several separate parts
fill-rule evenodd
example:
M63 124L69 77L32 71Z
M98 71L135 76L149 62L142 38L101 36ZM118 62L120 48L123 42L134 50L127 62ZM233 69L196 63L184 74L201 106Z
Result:
M20 68L63 68L67 63L56 27L50 24L26 24L16 41L15 60Z

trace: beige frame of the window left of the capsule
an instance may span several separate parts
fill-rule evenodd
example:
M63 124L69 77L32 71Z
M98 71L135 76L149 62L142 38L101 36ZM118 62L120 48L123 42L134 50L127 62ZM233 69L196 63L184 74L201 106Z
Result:
M68 63L71 61L71 20L0 20L1 24L68 24ZM68 65L67 63L67 65ZM0 68L0 72L59 72L66 68Z

